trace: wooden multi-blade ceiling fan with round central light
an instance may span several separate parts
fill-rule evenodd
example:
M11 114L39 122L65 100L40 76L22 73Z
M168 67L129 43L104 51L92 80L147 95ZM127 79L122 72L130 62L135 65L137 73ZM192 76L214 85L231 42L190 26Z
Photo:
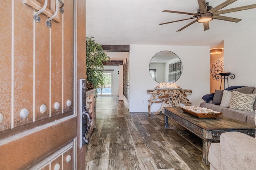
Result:
M240 6L237 8L231 8L227 10L221 10L222 8L232 4L233 2L236 2L237 0L226 0L222 4L212 8L212 6L209 6L209 2L206 2L206 0L197 0L199 9L197 10L196 13L190 13L190 12L180 12L180 11L170 11L170 10L164 10L162 12L170 12L170 13L176 13L176 14L187 14L187 15L192 15L190 18L182 19L182 20L176 20L176 21L170 21L170 22L165 22L165 23L160 23L159 25L163 25L166 23L173 23L173 22L178 22L178 21L184 21L184 20L190 20L190 19L195 19L194 21L190 22L189 24L185 25L178 31L181 31L182 29L188 27L189 25L192 25L196 21L199 23L204 24L204 31L210 29L209 21L213 19L217 20L224 20L224 21L231 21L231 22L239 22L241 19L238 18L231 18L227 16L220 16L219 14L226 14L230 12L236 12L236 11L242 11L242 10L249 10L256 8L256 4L252 5L247 5L247 6Z

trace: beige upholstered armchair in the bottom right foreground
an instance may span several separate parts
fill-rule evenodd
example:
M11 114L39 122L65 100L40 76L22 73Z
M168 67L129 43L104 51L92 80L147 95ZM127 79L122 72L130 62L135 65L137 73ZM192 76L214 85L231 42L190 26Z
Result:
M256 170L255 146L256 139L244 133L222 133L220 143L210 145L210 170Z

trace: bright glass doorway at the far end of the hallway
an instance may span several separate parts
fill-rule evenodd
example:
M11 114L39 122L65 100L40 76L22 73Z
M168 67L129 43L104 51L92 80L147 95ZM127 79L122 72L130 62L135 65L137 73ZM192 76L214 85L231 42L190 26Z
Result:
M97 96L112 96L113 71L103 71L104 87L97 88Z

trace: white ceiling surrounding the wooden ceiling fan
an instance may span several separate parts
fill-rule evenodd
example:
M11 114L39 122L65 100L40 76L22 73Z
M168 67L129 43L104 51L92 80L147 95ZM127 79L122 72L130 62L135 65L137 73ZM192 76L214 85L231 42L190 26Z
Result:
M215 7L225 0L207 0ZM226 8L256 4L256 0L237 0ZM78 4L79 5L79 4ZM223 14L242 19L238 23L212 20L204 31L202 23L194 23L176 32L192 20L159 25L191 16L162 12L174 10L196 13L197 0L86 0L86 37L94 37L102 45L189 45L218 47L236 33L256 29L256 8Z

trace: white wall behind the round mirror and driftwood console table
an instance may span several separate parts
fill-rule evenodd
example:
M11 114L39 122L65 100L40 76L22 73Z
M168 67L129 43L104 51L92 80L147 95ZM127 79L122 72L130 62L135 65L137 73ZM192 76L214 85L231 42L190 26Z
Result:
M210 92L210 47L130 45L130 112L147 112L146 90L158 86L148 70L151 58L160 51L171 51L182 61L182 75L176 85L191 89L188 96L192 105L200 105L202 96ZM157 111L160 104L152 104L151 111Z

